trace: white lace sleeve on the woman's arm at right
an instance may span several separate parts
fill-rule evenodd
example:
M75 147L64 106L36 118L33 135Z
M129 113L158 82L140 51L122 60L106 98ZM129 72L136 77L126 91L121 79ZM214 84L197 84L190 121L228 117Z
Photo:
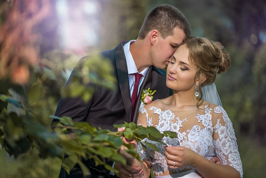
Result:
M236 144L233 124L222 107L215 107L214 112L218 114L213 133L213 144L217 157L223 165L235 168L240 173L241 178L243 178L242 162Z

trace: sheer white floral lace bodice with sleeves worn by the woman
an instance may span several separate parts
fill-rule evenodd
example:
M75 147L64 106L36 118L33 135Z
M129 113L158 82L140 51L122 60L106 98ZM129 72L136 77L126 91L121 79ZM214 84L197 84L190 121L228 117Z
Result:
M233 125L222 107L209 104L202 111L198 109L170 111L162 110L153 103L156 102L140 108L139 125L154 126L161 133L168 130L174 131L178 134L178 138L164 137L165 143L171 146L187 147L207 159L211 159L216 153L222 164L234 167L243 177ZM157 176L194 169L193 167L168 168L164 145L147 138L145 140L155 144L159 148L159 152L151 150L149 147L144 151L140 143L137 151L141 154L141 159L151 162L154 174Z

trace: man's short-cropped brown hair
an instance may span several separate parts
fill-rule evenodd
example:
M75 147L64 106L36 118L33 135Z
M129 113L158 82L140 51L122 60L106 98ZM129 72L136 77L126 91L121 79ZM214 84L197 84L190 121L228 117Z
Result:
M176 7L161 4L147 14L138 33L139 39L144 39L149 31L158 30L162 38L174 34L174 28L182 29L186 36L191 35L191 28L184 14Z

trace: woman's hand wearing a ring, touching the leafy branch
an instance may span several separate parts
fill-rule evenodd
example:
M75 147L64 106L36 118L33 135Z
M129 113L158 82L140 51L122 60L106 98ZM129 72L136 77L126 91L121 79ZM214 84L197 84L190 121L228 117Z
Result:
M165 147L165 156L169 168L180 169L193 166L198 154L186 147Z

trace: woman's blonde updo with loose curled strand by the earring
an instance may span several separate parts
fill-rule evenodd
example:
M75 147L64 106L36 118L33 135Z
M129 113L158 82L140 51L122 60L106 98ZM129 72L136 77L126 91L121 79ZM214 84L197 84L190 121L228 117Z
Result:
M227 71L230 67L230 57L224 46L220 42L213 42L207 38L187 36L184 42L188 52L188 61L196 66L195 82L199 79L198 89L202 99L201 87L211 85L216 79L216 75ZM206 76L206 80L204 80Z

